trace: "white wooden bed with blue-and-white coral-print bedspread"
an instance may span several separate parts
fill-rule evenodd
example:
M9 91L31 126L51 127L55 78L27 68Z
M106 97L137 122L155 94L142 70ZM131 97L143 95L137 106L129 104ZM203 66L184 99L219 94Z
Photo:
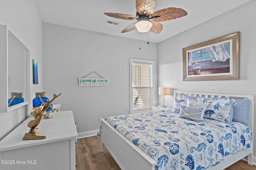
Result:
M192 92L192 91L184 91L184 90L174 90L174 98L182 98L182 95L185 96L192 96L194 98L201 98L201 99L205 99L205 98L224 98L224 99L228 99L228 98L234 98L234 99L239 99L239 100L243 100L243 99L248 99L248 101L250 102L250 106L249 106L249 117L248 117L248 126L246 127L242 127L242 125L244 125L244 123L238 123L239 127L241 128L241 132L236 132L236 130L238 130L239 128L235 128L236 130L234 131L234 127L233 125L237 124L237 123L227 123L225 122L219 122L217 121L217 123L215 122L215 124L210 125L210 127L202 127L202 129L199 129L201 131L201 133L195 132L194 129L198 129L198 127L203 126L204 122L202 123L201 121L193 121L190 119L184 119L182 121L183 124L186 123L186 127L181 127L181 129L185 128L183 131L185 131L185 136L189 137L191 141L188 140L188 138L185 139L185 137L181 137L182 139L184 139L185 141L187 141L186 144L184 144L185 148L182 148L182 145L180 143L180 141L184 141L184 140L180 140L180 137L175 137L173 136L174 133L177 133L175 129L170 130L170 127L168 127L168 125L165 123L164 126L166 126L165 128L169 128L168 130L163 128L159 128L160 126L163 126L162 124L159 124L158 128L153 128L153 131L156 131L156 134L159 133L164 133L164 135L169 135L167 138L169 140L169 142L164 142L164 145L166 145L166 148L169 148L169 150L166 150L167 152L170 152L168 155L168 159L169 159L169 163L166 164L164 162L164 156L160 156L158 158L155 158L156 155L154 151L159 150L159 148L157 147L152 147L152 145L157 146L158 145L158 141L157 140L153 140L155 139L154 136L151 137L152 140L150 140L151 142L151 147L150 147L150 151L149 149L146 149L146 147L148 147L148 144L143 144L143 142L141 143L141 141L139 141L138 139L140 139L140 137L136 137L134 130L130 130L130 131L124 131L125 129L128 129L129 127L122 127L118 124L116 124L116 119L120 119L122 118L124 120L124 122L126 122L126 125L129 126L130 122L127 122L126 118L130 117L130 116L138 116L137 114L134 115L120 115L120 116L116 116L116 117L111 117L111 118L107 118L105 119L101 119L102 121L102 125L101 125L101 137L102 137L102 152L104 151L104 145L106 146L106 148L108 149L108 151L110 152L110 154L113 156L113 158L116 160L117 164L120 166L121 169L123 170L154 170L154 169L189 169L189 170L200 170L200 169L209 169L209 170L213 170L213 169L224 169L228 166L230 166L231 164L237 162L238 160L244 158L247 156L247 160L248 160L248 164L252 165L253 164L253 104L254 104L254 95L253 94L243 94L243 93L224 93L224 92ZM231 99L230 99L231 100ZM183 108L183 107L182 107ZM177 127L180 126L178 125L178 119L182 119L182 118L177 118L177 113L171 113L171 111L163 111L162 113L158 112L158 113L154 113L151 114L150 112L146 112L146 113L139 113L140 115L142 115L141 120L142 121L148 121L147 116L148 115L156 115L156 116L161 116L161 117L168 117L168 123L169 124L175 124ZM219 118L223 118L223 116L218 115ZM175 117L176 116L176 117ZM137 120L134 119L134 117L132 118L133 120ZM138 118L139 120L139 118ZM154 118L154 120L156 120L156 118ZM164 120L164 119L163 119ZM108 121L108 122L107 122ZM212 121L212 119L205 119L204 121L208 121L210 123L214 122ZM166 122L166 121L163 121ZM112 125L110 125L112 124ZM194 125L197 126L194 126ZM141 124L140 124L141 125ZM147 126L147 125L145 125ZM191 128L190 128L190 127ZM218 129L225 129L225 131L227 131L228 129L231 131L226 132L226 135L219 135L218 137L214 136L212 134L212 131L215 131L212 129L213 126L219 126ZM144 132L143 131L145 128L143 126L139 126L139 125L134 125L134 127L136 127L136 133L138 131L140 132ZM249 128L250 127L250 128ZM194 129L193 129L194 128ZM201 128L201 127L200 127ZM193 129L192 132L188 132L188 129ZM169 133L165 133L165 132L169 132ZM247 132L246 132L247 131ZM122 134L123 132L123 134ZM188 134L190 133L190 134ZM194 134L193 134L194 133ZM228 143L228 141L231 140L231 136L233 135L233 137L235 136L235 134L239 133L239 136L237 137L238 140L234 140L235 143L239 143L241 150L238 152L236 149L238 148L238 146L235 146L236 144L230 144ZM139 133L138 133L139 134ZM200 141L198 143L196 143L196 145L193 146L188 146L188 143L193 143L193 140L196 141L198 140L198 134L199 136L202 136L202 139L200 140L204 140L204 141ZM250 134L250 135L248 135ZM194 135L194 137L193 137ZM248 135L248 136L246 136ZM125 137L126 136L126 137ZM150 136L150 135L148 135ZM192 138L193 137L193 138ZM164 137L162 137L164 138ZM166 138L166 139L167 139ZM228 146L229 149L231 150L227 150L227 149L220 149L222 148L222 144L220 146L220 143L218 142L213 142L211 141L211 138L219 138L221 141L225 141L223 144ZM245 140L246 139L246 140ZM233 139L232 139L233 141ZM152 144L153 143L153 144ZM162 141L161 141L162 143ZM215 143L215 144L214 144ZM210 147L206 147L206 144L209 145ZM217 149L214 149L213 145L217 146ZM211 147L212 146L212 147ZM144 151L143 151L143 148ZM162 147L163 148L163 147ZM170 149L171 148L171 149ZM155 149L155 150L154 150ZM172 150L172 151L171 151ZM177 153L178 150L178 153ZM188 151L189 154L183 154L183 151ZM214 154L213 151L216 151ZM180 151L180 152L179 152ZM203 152L208 152L208 156L204 156L202 153ZM151 153L151 154L150 154ZM194 153L197 153L196 155L193 155ZM210 153L210 156L209 156ZM194 158L193 158L194 156ZM200 158L201 156L201 158ZM213 157L211 157L213 156ZM180 157L181 160L178 160L178 157ZM216 158L214 160L214 157ZM220 158L221 159L217 159ZM206 159L208 163L205 164L200 164L200 160L202 159ZM162 163L159 163L159 160L162 159ZM196 164L196 162L200 164L200 166L198 166L198 164ZM201 162L202 163L202 162ZM212 166L213 165L213 166ZM208 167L209 166L209 167Z

